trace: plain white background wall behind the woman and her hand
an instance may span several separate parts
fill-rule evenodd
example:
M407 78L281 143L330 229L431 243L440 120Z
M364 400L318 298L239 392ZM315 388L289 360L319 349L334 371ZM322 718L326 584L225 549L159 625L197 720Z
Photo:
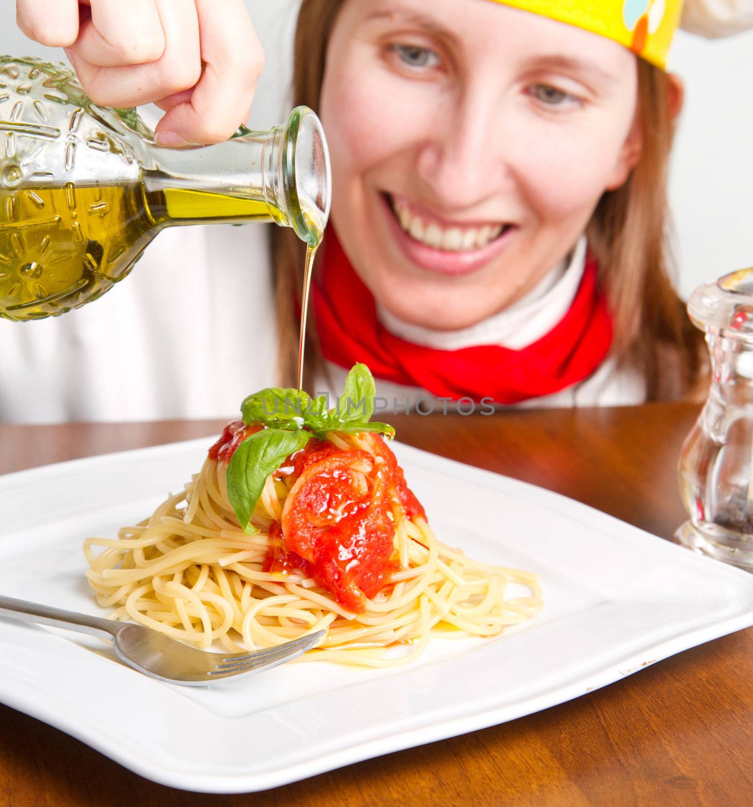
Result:
M270 128L290 103L296 0L245 0L266 51L250 124ZM27 40L15 27L15 2L0 5L0 52L61 51ZM753 266L753 32L707 41L678 34L670 69L683 77L685 109L671 165L671 207L680 293L733 269Z

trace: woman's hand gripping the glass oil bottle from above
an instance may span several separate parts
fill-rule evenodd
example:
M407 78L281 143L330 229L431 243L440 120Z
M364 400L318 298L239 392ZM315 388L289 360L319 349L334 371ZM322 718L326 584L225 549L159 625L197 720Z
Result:
M227 140L264 66L243 0L16 0L16 19L32 40L66 49L100 106L157 103L161 145Z

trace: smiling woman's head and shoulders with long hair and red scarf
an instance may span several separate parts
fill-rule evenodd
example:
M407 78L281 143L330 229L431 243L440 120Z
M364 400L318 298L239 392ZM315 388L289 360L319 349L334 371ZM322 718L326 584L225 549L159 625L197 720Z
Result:
M358 359L413 402L692 389L700 340L664 243L682 86L658 65L679 6L641 41L621 18L604 33L607 6L586 24L525 0L303 0L295 100L320 112L333 163L312 382ZM274 233L290 345L297 251Z

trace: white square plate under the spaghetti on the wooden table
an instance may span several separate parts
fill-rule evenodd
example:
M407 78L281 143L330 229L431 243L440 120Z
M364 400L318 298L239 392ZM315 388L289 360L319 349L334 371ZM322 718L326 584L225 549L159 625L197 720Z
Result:
M81 545L139 521L201 466L209 440L0 477L2 593L107 616ZM753 624L753 576L541 488L395 445L437 537L542 575L546 607L494 641L434 641L387 671L292 663L180 688L77 633L0 620L0 700L149 779L272 788L583 695Z

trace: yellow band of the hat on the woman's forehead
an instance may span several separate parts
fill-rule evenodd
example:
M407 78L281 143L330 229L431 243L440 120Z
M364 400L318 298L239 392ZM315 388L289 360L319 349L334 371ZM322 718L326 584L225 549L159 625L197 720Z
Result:
M619 42L664 69L683 0L494 0Z

